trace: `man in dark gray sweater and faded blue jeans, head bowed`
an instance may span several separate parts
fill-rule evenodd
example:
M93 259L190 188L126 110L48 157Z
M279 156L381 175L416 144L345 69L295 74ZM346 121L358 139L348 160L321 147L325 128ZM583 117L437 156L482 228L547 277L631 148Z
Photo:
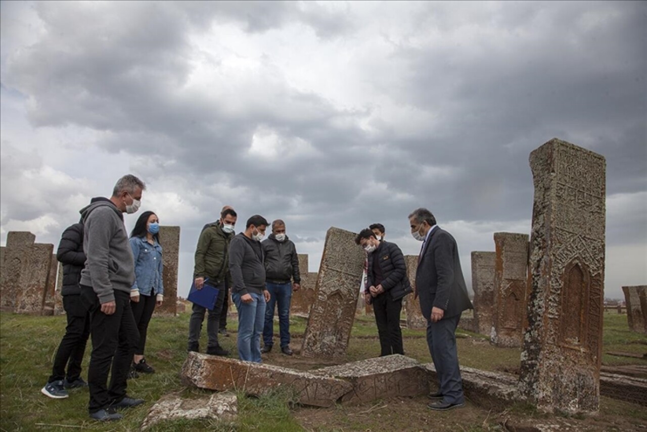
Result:
M261 248L267 225L263 216L254 215L247 220L245 232L229 244L232 299L238 310L238 357L245 362L261 363L265 303L270 299Z

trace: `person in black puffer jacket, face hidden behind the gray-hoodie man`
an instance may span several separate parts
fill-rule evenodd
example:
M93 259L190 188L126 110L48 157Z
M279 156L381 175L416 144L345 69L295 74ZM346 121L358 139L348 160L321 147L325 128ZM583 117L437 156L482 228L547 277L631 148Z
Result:
M90 314L80 299L79 281L81 270L85 265L83 253L83 224L69 226L61 237L56 251L56 258L63 263L63 309L67 315L65 336L56 351L52 375L41 393L50 398L67 398L66 389L86 387L87 383L81 378L81 363L85 353L85 345L90 334ZM65 365L67 364L67 376Z

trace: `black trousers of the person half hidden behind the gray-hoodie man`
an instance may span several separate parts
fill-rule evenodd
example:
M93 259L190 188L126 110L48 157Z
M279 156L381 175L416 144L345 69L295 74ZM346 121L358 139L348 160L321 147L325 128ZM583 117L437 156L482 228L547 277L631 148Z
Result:
M67 365L67 380L72 382L81 374L81 363L87 338L90 336L90 314L81 302L79 294L63 296L63 309L67 316L65 335L58 345L52 374L47 382L63 380Z

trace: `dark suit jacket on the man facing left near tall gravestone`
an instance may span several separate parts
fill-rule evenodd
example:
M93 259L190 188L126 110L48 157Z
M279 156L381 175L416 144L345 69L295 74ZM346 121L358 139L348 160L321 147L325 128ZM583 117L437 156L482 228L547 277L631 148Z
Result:
M472 309L467 294L458 246L454 237L439 226L430 233L415 272L422 316L430 319L432 307L444 310L443 318Z

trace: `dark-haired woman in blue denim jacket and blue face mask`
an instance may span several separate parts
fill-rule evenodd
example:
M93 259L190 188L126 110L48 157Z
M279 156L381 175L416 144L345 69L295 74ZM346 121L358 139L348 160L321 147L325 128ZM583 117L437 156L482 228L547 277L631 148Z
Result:
M154 373L155 369L146 363L144 347L146 346L146 330L153 316L155 305L164 300L164 284L162 283L162 246L159 241L159 219L152 211L144 211L137 219L135 228L130 235L130 246L135 258L135 284L131 288L130 299L133 316L139 330L139 345L133 357L131 376L135 378L137 371Z

